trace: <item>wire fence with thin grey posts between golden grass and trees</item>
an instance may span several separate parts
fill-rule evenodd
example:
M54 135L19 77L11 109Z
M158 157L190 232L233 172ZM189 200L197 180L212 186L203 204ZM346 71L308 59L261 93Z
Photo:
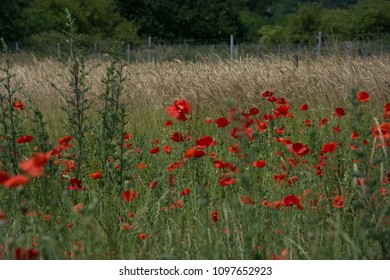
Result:
M390 39L385 34L375 40L358 38L352 41L324 40L319 32L310 42L280 43L272 46L262 45L255 40L235 38L233 35L226 40L181 40L164 42L148 37L145 44L117 44L111 41L82 42L80 49L90 59L104 59L116 45L123 60L127 63L165 62L182 60L188 62L234 61L246 58L264 59L293 58L297 61L303 58L320 58L324 56L345 56L349 59L370 56L384 57L390 54ZM12 44L14 48L12 48ZM74 55L65 41L47 42L42 45L11 43L16 61L28 61L31 55L35 57L51 57L64 59Z

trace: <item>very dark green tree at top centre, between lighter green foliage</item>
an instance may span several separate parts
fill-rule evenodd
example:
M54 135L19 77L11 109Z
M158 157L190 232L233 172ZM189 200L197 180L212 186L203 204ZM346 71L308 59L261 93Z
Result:
M143 36L165 40L226 38L244 35L240 11L245 0L116 0L121 14Z

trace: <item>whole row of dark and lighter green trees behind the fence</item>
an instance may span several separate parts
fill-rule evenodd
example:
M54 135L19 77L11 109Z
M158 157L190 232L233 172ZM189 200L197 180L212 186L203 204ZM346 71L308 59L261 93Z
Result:
M389 0L2 0L0 37L44 45L64 39L66 9L85 42L212 41L234 34L274 45L390 32ZM326 37L325 37L326 39Z

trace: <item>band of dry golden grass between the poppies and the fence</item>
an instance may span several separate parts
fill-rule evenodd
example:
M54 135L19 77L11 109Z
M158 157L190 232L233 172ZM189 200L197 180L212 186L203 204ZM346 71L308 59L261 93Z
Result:
M215 103L234 99L251 102L263 90L273 90L290 100L312 104L343 101L353 87L372 93L373 100L390 96L389 57L353 59L327 57L302 60L296 68L290 60L247 59L233 64L182 61L130 64L125 69L125 95L134 108L164 107L172 99ZM91 94L102 90L101 77L105 63L90 61ZM32 60L15 65L15 74L22 86L40 104L59 104L59 95L51 83L66 87L61 77L66 65L53 59ZM63 73L61 72L63 71Z

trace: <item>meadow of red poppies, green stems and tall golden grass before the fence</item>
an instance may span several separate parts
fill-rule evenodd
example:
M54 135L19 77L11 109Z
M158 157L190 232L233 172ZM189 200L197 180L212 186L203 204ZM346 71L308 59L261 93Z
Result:
M389 259L383 60L16 64L3 43L0 259Z

